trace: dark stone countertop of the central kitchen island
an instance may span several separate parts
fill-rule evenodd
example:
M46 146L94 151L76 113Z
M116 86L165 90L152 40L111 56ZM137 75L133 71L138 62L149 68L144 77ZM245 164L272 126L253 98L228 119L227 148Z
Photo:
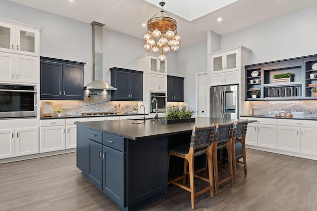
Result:
M190 132L193 127L210 126L212 124L220 123L226 124L234 120L196 117L194 123L177 123L163 125L160 121L146 120L110 120L110 121L95 121L95 122L78 122L76 125L86 126L92 129L100 130L113 135L129 138L132 140L159 137L165 135L173 135L184 132Z

